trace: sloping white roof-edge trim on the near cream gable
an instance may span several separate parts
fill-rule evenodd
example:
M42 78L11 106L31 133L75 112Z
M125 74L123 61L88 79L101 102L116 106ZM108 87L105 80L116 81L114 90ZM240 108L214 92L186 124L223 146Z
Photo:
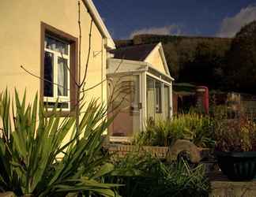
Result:
M82 0L82 2L84 2L86 8L88 9L88 13L91 15L92 19L94 20L97 28L99 28L100 33L104 36L105 46L107 46L107 48L110 48L110 49L115 49L115 43L111 38L110 33L107 31L104 21L100 17L100 13L97 11L92 0Z

